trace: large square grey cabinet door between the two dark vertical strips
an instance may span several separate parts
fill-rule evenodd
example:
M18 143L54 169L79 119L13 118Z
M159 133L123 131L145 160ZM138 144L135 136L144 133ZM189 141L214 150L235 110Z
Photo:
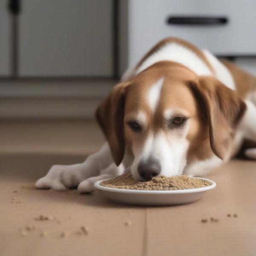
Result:
M112 0L23 0L19 76L111 76Z

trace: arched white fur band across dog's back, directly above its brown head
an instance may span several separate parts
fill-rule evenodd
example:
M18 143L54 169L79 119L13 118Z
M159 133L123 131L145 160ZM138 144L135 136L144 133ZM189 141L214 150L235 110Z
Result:
M136 70L136 75L158 61L175 61L188 67L198 76L212 76L211 70L195 52L176 43L167 43L150 55Z

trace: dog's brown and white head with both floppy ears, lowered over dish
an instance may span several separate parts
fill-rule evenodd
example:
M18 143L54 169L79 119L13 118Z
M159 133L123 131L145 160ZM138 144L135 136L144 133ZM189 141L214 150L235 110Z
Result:
M187 161L229 153L246 109L235 91L177 63L158 62L116 85L96 111L116 165L136 180L180 175Z

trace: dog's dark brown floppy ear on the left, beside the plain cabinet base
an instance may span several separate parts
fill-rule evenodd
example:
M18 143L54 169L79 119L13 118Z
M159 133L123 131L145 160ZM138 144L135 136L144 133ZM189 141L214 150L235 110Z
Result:
M117 166L122 162L125 154L123 122L127 85L128 83L120 83L113 87L111 93L96 110L96 119L108 140Z

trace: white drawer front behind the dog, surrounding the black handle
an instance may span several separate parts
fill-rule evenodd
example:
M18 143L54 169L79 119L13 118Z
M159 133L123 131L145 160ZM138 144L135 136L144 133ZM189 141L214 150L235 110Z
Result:
M129 64L157 41L183 38L216 55L256 55L255 0L129 0ZM215 26L168 24L169 17L225 17Z

